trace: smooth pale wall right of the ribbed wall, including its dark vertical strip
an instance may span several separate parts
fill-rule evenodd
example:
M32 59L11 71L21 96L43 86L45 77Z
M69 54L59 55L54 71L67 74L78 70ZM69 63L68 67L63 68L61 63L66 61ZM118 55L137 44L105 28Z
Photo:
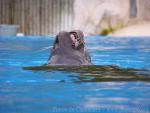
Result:
M150 0L75 0L74 28L87 35L111 25L128 26L150 21Z

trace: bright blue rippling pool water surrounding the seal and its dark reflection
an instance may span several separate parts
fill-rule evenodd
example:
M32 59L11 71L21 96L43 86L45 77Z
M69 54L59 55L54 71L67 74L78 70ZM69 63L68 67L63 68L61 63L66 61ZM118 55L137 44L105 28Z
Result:
M0 113L150 113L150 82L77 83L75 72L23 70L47 63L53 41L0 37ZM88 37L86 44L96 65L150 70L148 37Z

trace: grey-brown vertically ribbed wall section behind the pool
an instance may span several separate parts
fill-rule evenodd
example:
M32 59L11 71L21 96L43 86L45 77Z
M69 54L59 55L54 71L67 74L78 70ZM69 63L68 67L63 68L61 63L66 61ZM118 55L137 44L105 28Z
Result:
M56 34L73 26L74 0L0 0L0 24L20 26L25 35Z

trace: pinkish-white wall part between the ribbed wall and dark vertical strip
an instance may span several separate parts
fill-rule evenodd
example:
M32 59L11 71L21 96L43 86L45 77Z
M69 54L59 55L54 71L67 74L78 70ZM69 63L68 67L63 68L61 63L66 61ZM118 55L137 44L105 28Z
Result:
M129 1L128 0L75 0L74 27L82 29L86 34L95 34L101 21L106 18L128 20Z

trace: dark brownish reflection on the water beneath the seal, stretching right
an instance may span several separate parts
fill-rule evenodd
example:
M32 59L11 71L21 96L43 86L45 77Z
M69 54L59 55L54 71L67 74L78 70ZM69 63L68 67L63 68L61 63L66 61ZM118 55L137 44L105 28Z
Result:
M63 71L79 73L75 82L120 82L145 81L150 82L150 70L119 68L118 66L79 66L79 67L23 67L32 71Z

